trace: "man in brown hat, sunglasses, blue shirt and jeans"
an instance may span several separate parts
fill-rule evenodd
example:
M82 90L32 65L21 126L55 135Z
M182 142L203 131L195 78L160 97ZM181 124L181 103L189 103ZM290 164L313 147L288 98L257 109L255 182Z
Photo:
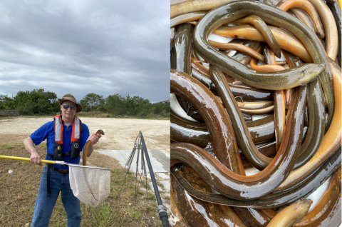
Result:
M89 157L93 152L93 144L97 143L101 137L96 133L89 136L88 126L81 123L75 116L76 113L82 111L82 106L77 103L73 95L65 94L62 99L58 99L58 102L61 105L61 114L56 115L54 121L45 123L38 128L24 141L26 150L31 153L31 163L42 166L41 156L34 145L38 145L45 139L48 150L47 160L78 164L81 159L80 152L86 141L92 142L88 148L87 156ZM43 168L31 227L48 226L60 191L68 217L68 226L81 225L80 201L73 196L69 183L68 166L48 164Z

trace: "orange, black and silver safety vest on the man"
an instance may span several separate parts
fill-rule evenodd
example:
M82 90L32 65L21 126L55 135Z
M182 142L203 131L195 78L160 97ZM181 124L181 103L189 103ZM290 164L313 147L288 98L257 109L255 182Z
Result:
M53 129L55 131L55 143L53 145L53 156L56 161L63 161L63 157L70 156L70 159L78 158L80 156L81 146L81 120L77 116L73 118L73 132L71 135L71 151L63 152L63 121L62 115L58 114L53 117L55 124Z

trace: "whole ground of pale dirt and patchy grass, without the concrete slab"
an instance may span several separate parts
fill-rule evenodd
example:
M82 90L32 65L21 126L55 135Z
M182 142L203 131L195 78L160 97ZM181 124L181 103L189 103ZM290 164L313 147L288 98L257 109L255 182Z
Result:
M48 117L0 118L0 155L29 158L23 141L38 127L51 121ZM90 133L103 129L105 135L95 145L95 150L132 149L139 131L145 138L147 149L157 149L170 154L170 121L142 120L132 118L81 118ZM37 146L38 153L46 154L46 144ZM90 208L81 203L81 226L160 226L157 203L148 182L137 181L133 174L125 174L124 168L114 158L93 152L91 163L112 168L110 196L99 208ZM0 158L0 226L29 226L38 193L41 166L26 161ZM9 170L14 173L9 174ZM161 181L156 176L157 181ZM170 204L170 188L160 187L162 201ZM167 206L168 207L168 206ZM66 213L58 198L51 216L50 226L66 226Z

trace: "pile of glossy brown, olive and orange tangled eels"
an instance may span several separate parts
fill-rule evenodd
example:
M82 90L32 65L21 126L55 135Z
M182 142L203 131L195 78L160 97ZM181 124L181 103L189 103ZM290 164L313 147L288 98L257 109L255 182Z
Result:
M176 1L171 226L341 226L341 0Z

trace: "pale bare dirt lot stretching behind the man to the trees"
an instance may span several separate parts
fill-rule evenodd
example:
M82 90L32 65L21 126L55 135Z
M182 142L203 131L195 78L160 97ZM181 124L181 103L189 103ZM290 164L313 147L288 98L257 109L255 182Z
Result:
M22 143L44 123L53 117L0 118L0 143ZM95 146L102 150L126 150L134 146L139 131L145 138L147 149L170 153L170 121L133 118L87 118L81 117L90 133L102 129L105 135Z

